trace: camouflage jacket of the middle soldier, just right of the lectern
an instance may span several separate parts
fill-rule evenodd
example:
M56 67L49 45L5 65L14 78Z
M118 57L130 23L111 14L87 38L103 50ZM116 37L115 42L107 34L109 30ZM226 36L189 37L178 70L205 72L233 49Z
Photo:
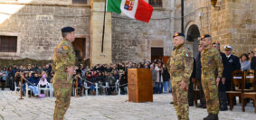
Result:
M191 51L185 47L185 44L176 47L167 61L166 67L172 80L174 80L174 77L182 77L175 80L184 80L185 83L189 82L193 70L193 56Z

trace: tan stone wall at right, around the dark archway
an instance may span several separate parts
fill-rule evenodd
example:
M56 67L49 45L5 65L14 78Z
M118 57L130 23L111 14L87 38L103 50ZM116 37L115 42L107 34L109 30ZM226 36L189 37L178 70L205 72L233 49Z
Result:
M256 48L255 5L255 0L218 0L216 7L210 0L185 0L185 34L195 24L200 35L211 34L213 42L221 43L222 50L229 44L238 56L252 51ZM175 31L181 30L180 6L180 0L175 0Z

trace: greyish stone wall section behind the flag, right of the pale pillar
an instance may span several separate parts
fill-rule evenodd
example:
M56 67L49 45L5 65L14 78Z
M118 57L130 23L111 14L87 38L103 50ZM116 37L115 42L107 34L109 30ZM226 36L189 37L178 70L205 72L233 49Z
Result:
M154 8L149 23L132 20L120 14L112 14L113 62L125 60L138 62L150 59L152 47L164 48L164 55L170 55L173 48L170 2L163 0L163 8Z

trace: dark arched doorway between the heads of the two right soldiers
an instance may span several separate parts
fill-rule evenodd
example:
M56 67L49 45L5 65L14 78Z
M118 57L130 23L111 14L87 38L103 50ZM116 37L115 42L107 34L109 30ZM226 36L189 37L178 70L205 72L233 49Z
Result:
M197 25L192 24L189 26L186 32L186 41L188 46L193 50L194 57L198 54L198 38L200 37L200 31Z

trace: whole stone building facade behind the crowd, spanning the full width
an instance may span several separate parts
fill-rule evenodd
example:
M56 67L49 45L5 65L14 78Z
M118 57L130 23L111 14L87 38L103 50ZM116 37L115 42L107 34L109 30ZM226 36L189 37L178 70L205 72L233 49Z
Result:
M16 37L12 38L16 39L15 52L0 49L0 58L52 60L52 51L62 40L63 26L76 29L73 45L77 56L90 59L91 65L170 55L172 36L181 32L181 0L162 0L162 5L154 7L150 23L107 13L101 51L104 1L0 0L0 41L3 36ZM186 42L194 55L198 37L204 33L211 34L222 49L232 45L237 55L256 47L255 0L218 0L215 7L210 0L184 1Z

